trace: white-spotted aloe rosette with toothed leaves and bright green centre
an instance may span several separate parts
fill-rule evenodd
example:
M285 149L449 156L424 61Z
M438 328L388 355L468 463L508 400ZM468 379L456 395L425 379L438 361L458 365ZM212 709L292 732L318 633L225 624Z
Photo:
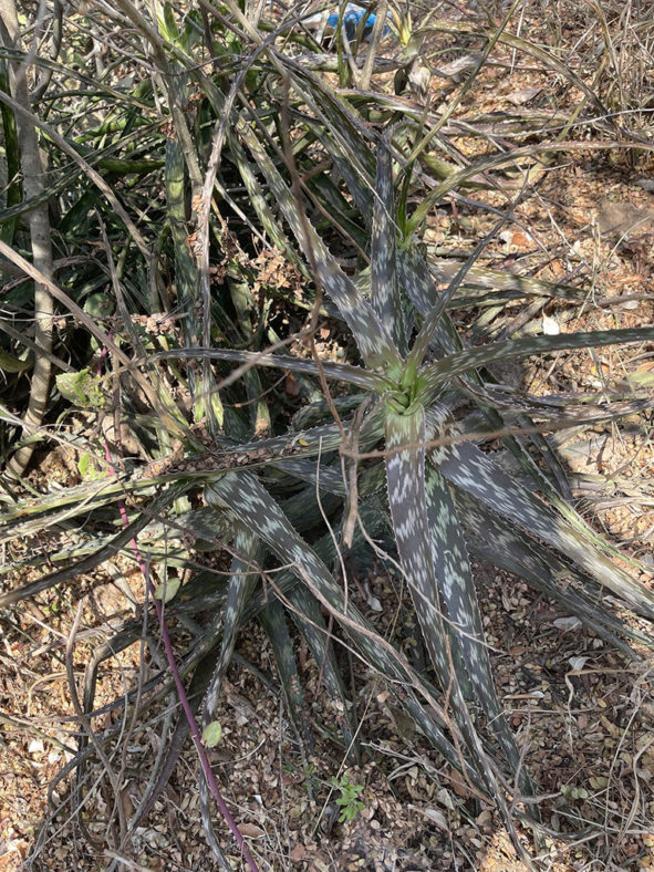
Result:
M550 595L556 595L593 629L601 624L608 629L612 623L602 608L580 608L581 599L591 595L596 590L595 585L605 588L648 619L654 616L654 596L598 549L596 537L571 509L564 513L559 510L562 501L552 504L534 496L529 487L507 475L473 444L459 443L456 436L465 436L465 419L463 425L455 424L443 401L447 397L451 404L451 388L457 378L481 365L539 351L624 341L647 342L652 341L653 331L645 328L541 336L447 353L454 343L449 339L450 325L443 323L447 302L445 293L423 310L422 326L407 347L407 298L409 302L421 300L424 303L421 292L426 290L424 277L428 272L415 248L412 250L411 241L404 248L398 247L390 145L381 143L377 153L368 295L364 295L342 272L328 248L302 219L301 208L259 144L252 143L251 146L284 217L307 257L315 264L318 282L339 307L366 364L364 372L367 377L363 372L353 373L351 367L338 364L322 368L328 378L341 378L357 386L367 382L368 391L375 396L375 406L368 417L378 417L383 422L385 440L381 454L384 456L391 523L405 583L414 601L437 684L442 693L447 694L453 719L464 737L476 783L485 785L489 796L506 812L501 788L478 731L479 714L487 723L487 734L501 749L505 771L519 776L523 792L530 792L531 786L527 774L520 770L520 752L495 691L468 557L468 540L474 530L461 522L461 509L467 512L473 505L481 518L498 528L497 556L492 553L492 547L490 549L490 556L498 565L523 574ZM403 260L402 269L398 260ZM402 281L398 281L398 274ZM437 335L444 336L445 349L435 340ZM438 355L439 360L430 360L430 353ZM214 354L247 360L246 355L230 352L222 354L216 351ZM291 372L294 368L308 371L305 363L297 365L287 356L276 359L269 355L263 362ZM319 370L316 364L316 374ZM364 429L365 421L364 417ZM304 454L309 455L311 434L303 433L301 438L307 446ZM521 449L518 451L531 473L532 482L542 487L546 477ZM551 486L549 490L552 490ZM355 614L352 606L343 611L342 595L334 601L336 589L326 567L295 533L260 482L230 474L208 486L206 498L210 505L229 509L252 532L257 532L280 560L293 563L299 578L305 583L311 579L330 602L336 617L343 620ZM474 540L470 544L474 547ZM552 572L542 560L550 550L570 561L567 573L578 581L581 599L577 599L577 594L569 599L560 585L561 574ZM533 553L540 558L536 573L525 565ZM553 556L550 559L557 560ZM360 615L356 615L356 621L361 622ZM362 644L359 629L344 623L343 630ZM378 657L380 652L373 656ZM376 660L373 662L378 663ZM448 752L450 748L444 743L443 750ZM508 818L506 822L510 829Z

